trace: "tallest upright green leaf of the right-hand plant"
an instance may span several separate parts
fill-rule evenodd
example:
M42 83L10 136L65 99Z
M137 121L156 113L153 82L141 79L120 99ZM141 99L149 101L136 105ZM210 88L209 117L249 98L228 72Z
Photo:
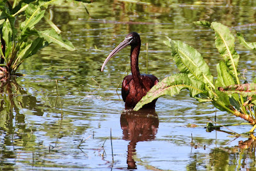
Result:
M239 78L237 73L237 64L239 61L239 55L235 50L235 38L230 33L227 26L218 22L211 23L212 29L215 31L215 45L218 48L221 56L228 66L228 70L232 72L232 75L236 78L237 84L239 84Z

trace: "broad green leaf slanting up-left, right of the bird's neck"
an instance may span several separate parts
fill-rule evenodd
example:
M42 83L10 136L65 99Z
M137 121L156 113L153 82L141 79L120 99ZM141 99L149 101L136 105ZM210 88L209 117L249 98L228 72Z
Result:
M207 63L195 48L168 38L164 43L172 48L172 57L180 72L188 74L195 80L201 80L214 89L213 77Z

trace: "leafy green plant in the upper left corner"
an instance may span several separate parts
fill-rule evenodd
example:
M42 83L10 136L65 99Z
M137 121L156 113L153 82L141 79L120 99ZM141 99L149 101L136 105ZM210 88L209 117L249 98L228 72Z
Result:
M86 0L83 2L90 3ZM56 43L68 50L76 49L70 41L61 38L58 27L44 16L50 4L61 3L63 0L0 1L0 70L2 76L15 75L25 59L50 43ZM20 26L16 24L17 19L21 22ZM36 29L36 24L42 23L42 19L45 19L44 23L48 23L51 29L44 31Z

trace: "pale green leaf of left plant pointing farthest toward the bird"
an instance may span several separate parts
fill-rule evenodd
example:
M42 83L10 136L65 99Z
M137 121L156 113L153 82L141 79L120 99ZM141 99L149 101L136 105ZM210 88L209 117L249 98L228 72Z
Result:
M48 43L56 43L61 47L67 48L68 50L76 50L72 43L68 40L63 40L61 35L56 33L53 29L46 31L38 31L40 37L45 38Z

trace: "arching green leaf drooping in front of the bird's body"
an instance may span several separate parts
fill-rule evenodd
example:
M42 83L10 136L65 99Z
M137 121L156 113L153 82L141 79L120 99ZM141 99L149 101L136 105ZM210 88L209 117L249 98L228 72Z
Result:
M159 98L159 96L169 95L173 96L179 94L182 89L188 89L191 97L196 97L200 93L205 92L205 84L200 80L189 78L185 73L178 73L170 77L164 78L148 91L134 107L134 110L139 110L143 105Z

